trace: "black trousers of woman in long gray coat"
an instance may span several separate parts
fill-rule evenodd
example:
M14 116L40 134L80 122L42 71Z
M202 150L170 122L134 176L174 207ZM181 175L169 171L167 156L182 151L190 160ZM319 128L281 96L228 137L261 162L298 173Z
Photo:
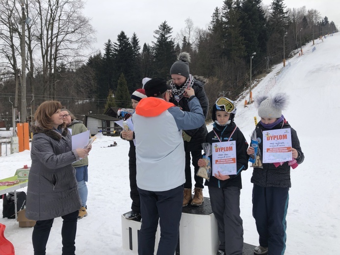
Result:
M62 255L75 255L77 219L79 211L75 211L64 216L63 226L61 228L62 237ZM53 219L37 221L32 232L32 244L34 255L46 255L46 244L50 236Z

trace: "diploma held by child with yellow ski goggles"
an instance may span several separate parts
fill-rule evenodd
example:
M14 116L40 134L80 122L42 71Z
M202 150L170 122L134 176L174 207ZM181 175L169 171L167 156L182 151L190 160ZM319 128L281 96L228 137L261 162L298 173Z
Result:
M236 142L212 143L212 174L236 174Z

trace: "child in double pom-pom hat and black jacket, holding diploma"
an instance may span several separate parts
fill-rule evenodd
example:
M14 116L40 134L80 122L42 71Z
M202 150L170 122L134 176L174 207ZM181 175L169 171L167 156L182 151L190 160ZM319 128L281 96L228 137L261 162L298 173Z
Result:
M288 190L290 183L290 166L295 168L304 160L296 131L290 127L282 110L286 107L286 94L276 94L272 98L262 96L255 99L261 121L255 132L259 143L258 150L263 153L263 134L273 129L289 129L291 133L291 160L287 162L263 163L262 167L254 167L251 182L253 186L253 217L259 233L260 245L254 254L283 255L286 249L286 214L288 209ZM266 137L264 137L266 139ZM250 146L248 155L254 153ZM262 158L261 158L262 160Z

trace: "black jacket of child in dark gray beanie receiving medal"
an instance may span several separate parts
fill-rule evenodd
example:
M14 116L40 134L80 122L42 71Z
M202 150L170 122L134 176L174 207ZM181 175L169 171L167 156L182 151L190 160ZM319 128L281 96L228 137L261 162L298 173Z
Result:
M209 110L209 101L204 90L204 80L198 80L198 77L195 77L194 84L192 85L193 90L195 91L195 96L200 101L201 107L203 109L203 114L207 118L208 110ZM170 102L174 103L176 106L180 106L183 111L190 111L188 106L188 98L183 97L179 102L177 102L174 98L170 98ZM201 128L184 130L188 135L191 136L190 143L204 143L206 136L208 134L208 130L206 124L204 124Z

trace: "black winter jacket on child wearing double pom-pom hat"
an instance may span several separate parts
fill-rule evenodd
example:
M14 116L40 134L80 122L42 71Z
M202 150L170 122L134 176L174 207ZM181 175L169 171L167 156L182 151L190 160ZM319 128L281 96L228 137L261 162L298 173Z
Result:
M284 123L283 123L284 122ZM296 149L298 152L298 157L296 161L298 164L301 164L305 158L302 153L299 138L297 137L296 131L290 127L288 122L284 120L277 126L272 129L280 129L280 128L290 128L291 130L291 145L292 148ZM282 125L284 124L284 125ZM269 130L264 128L261 125L261 122L255 128L257 140L259 141L259 149L263 155L263 135L262 131ZM262 159L261 159L262 160ZM263 163L263 169L254 167L253 177L251 178L251 182L259 185L261 187L279 187L279 188L290 188L290 166L288 162L285 162L283 165L275 167L272 163Z

